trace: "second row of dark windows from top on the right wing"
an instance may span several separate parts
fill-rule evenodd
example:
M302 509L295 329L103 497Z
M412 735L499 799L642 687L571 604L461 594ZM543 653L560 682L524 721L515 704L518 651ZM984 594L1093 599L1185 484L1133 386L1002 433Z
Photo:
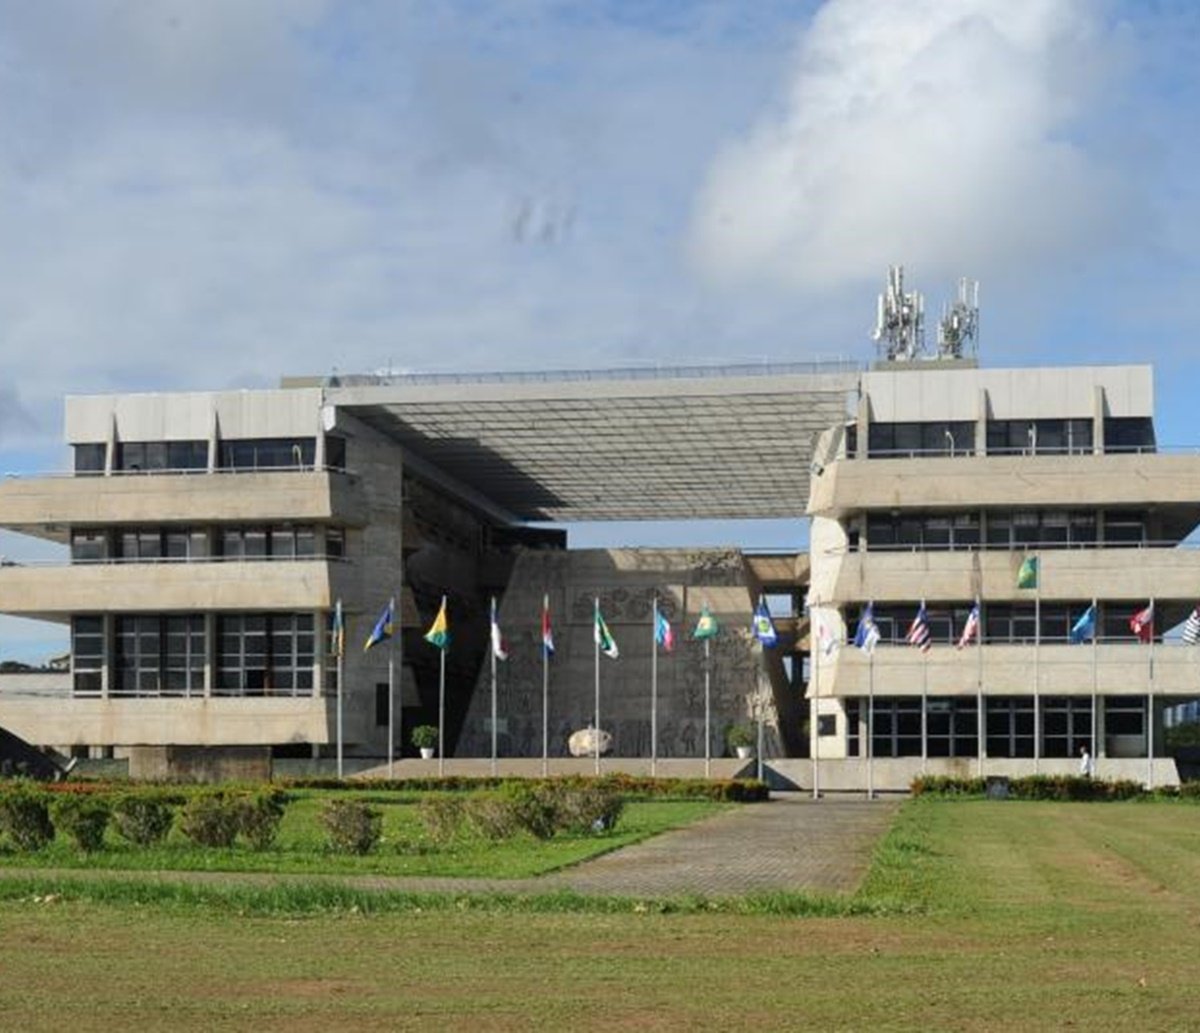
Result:
M866 548L1123 548L1150 541L1148 523L1148 515L1139 510L872 512L866 517Z

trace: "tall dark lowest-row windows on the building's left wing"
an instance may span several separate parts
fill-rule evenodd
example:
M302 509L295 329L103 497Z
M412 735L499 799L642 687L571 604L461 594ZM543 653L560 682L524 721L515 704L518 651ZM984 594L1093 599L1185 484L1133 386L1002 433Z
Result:
M100 692L104 667L102 617L72 621L74 689ZM113 696L187 696L204 691L204 617L128 615L113 619ZM236 695L307 693L316 636L311 613L235 613L216 619L214 689Z

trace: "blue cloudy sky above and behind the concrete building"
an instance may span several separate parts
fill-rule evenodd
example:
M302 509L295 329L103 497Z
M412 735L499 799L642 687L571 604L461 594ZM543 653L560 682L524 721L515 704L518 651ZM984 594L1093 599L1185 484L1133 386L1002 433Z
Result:
M896 263L1195 444L1198 70L1188 0L0 0L0 474L67 394L865 362Z

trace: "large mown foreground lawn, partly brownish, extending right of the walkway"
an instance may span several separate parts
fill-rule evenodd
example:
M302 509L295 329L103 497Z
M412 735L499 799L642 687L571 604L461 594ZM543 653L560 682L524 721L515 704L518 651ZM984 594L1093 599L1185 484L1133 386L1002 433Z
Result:
M1200 1017L1189 804L912 800L844 902L878 913L839 918L466 896L389 897L378 913L293 901L289 914L265 896L155 893L156 906L106 903L98 883L0 881L7 1025L1146 1031Z

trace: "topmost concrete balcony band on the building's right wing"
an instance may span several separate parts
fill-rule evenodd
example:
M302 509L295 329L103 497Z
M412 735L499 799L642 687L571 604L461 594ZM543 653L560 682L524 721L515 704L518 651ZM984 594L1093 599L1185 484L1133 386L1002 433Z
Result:
M1198 482L1200 454L839 460L812 479L809 512L1188 505Z

